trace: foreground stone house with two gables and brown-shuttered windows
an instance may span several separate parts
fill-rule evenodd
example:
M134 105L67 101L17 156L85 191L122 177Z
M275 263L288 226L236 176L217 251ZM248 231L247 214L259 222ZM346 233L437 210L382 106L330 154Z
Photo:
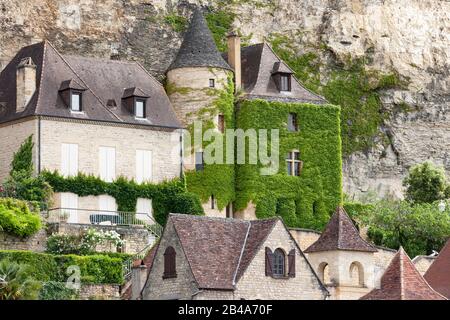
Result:
M328 297L279 218L171 214L150 265L144 300Z

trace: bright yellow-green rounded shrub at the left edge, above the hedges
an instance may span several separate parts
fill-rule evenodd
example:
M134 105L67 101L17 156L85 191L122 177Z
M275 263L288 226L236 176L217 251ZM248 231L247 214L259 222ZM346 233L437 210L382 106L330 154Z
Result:
M41 229L38 212L31 212L27 203L17 199L0 198L0 226L9 234L28 237Z

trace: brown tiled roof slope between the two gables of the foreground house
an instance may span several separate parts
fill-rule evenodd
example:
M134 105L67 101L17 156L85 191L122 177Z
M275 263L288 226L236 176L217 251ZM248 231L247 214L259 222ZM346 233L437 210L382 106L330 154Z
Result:
M233 290L278 218L245 221L171 214L200 289ZM242 256L242 257L241 257Z

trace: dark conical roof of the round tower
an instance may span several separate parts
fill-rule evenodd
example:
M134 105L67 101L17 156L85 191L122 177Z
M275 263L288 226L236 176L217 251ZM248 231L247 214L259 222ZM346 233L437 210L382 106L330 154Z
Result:
M215 67L232 70L220 55L201 10L194 11L180 50L167 71L184 67Z

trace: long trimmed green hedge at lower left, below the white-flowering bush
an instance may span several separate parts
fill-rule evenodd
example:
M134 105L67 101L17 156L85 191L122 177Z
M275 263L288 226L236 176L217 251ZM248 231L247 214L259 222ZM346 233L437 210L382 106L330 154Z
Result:
M3 259L27 264L30 267L30 275L38 281L65 282L68 278L67 268L72 265L80 268L83 283L122 284L124 281L122 257L105 254L76 256L0 250L0 260Z

